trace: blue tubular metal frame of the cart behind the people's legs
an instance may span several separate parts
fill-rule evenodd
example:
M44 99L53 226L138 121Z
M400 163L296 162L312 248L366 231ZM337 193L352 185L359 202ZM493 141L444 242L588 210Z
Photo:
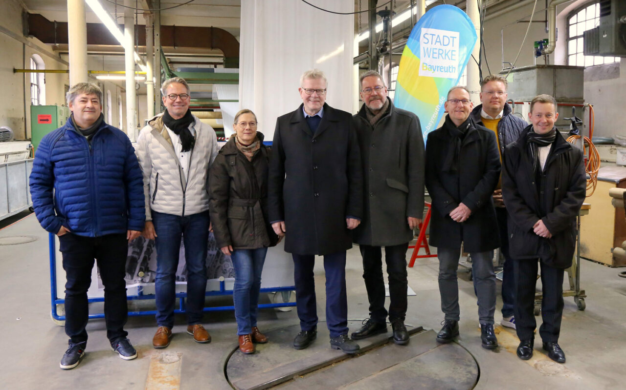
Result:
M56 296L56 246L54 244L54 234L48 234L48 242L49 242L49 254L50 254L50 297L51 297L51 315L52 318L56 321L65 321L65 316L59 316L56 311L56 305L64 304L65 299L60 299ZM143 300L143 299L155 299L154 294L143 294L142 287L138 288L137 295L127 296L128 301L135 300ZM284 287L265 287L262 288L260 292L280 292L280 291L294 291L295 286L284 286ZM225 289L225 282L220 280L220 289L218 291L207 291L205 296L224 296L224 295L232 295L232 290ZM186 292L177 292L176 297L178 298L178 309L174 309L175 313L184 313L185 312L185 298L187 298ZM104 297L95 297L88 298L88 302L104 302ZM264 303L259 304L259 309L267 309L270 307L289 307L295 306L295 302L284 302L284 303ZM205 307L203 311L223 311L223 310L234 310L235 306L212 306ZM155 310L145 310L145 311L129 311L128 316L154 316L156 314ZM90 319L95 318L104 318L104 313L94 313L89 314Z

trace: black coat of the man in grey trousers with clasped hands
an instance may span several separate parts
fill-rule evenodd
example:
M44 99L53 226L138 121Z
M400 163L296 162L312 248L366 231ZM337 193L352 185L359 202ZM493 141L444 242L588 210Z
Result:
M446 119L448 121L448 119ZM428 134L426 141L426 188L432 199L429 244L484 252L500 246L493 194L500 178L500 155L493 131L470 126L461 143L456 171L444 171L454 137L446 124ZM459 203L471 210L464 222L449 213Z

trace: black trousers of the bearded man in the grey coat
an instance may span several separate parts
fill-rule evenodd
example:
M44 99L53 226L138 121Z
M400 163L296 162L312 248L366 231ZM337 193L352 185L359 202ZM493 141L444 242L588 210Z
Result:
M389 321L404 321L406 316L406 251L409 243L386 246L385 262L389 281ZM380 246L359 245L363 257L363 279L369 300L369 316L374 322L387 321L385 309L385 284L382 276L382 250Z

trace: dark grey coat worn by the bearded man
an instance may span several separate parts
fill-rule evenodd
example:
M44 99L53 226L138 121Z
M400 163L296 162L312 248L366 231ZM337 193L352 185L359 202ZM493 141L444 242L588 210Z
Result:
M418 117L396 108L372 127L365 104L354 116L363 159L363 219L354 242L391 246L409 242L407 217L424 213L424 139Z

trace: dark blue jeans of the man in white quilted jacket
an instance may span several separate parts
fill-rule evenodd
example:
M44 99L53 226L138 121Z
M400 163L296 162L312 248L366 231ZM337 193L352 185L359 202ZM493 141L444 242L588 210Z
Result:
M208 211L184 217L152 211L152 223L156 232L156 324L174 326L181 239L187 268L187 321L189 325L199 324L207 291Z

